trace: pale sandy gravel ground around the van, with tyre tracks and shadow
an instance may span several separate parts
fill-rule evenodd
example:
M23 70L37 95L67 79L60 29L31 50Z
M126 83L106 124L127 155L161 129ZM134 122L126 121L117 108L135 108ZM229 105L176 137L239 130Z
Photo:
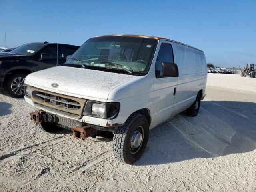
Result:
M43 132L32 109L0 94L0 191L256 191L256 78L209 74L198 116L151 130L133 165L110 139Z

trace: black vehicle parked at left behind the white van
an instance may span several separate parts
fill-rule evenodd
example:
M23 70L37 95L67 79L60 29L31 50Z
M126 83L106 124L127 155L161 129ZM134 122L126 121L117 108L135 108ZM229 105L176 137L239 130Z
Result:
M0 54L0 89L14 98L24 97L25 77L35 71L64 64L79 46L56 43L28 43ZM58 54L57 54L58 53Z

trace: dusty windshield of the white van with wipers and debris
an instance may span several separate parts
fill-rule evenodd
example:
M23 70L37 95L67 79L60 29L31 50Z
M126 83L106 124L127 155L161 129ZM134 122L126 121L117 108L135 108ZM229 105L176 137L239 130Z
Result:
M156 40L137 37L96 37L85 42L66 62L82 68L105 68L110 72L145 75Z

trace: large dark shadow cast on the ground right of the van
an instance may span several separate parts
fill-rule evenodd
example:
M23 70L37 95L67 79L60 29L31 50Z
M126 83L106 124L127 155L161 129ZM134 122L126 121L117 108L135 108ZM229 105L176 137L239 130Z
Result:
M166 164L244 153L256 148L256 103L202 101L198 116L180 113L150 131L134 165Z

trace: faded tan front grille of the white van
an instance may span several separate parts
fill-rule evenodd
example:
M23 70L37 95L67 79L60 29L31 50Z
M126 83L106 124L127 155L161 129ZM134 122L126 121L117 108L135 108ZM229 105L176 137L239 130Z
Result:
M81 118L85 99L49 92L38 88L32 88L32 101L36 106L67 115L72 118Z

